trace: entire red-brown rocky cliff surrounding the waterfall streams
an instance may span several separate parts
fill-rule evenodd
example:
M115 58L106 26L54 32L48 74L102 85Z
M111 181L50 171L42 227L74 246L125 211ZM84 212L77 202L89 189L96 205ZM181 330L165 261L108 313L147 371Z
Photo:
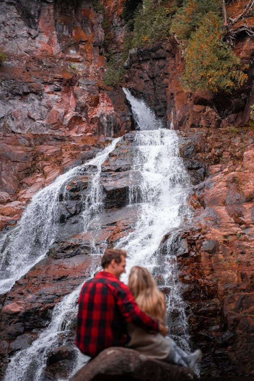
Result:
M120 51L123 1L102 3ZM5 0L0 7L1 44L7 52L0 67L0 222L1 228L12 229L33 194L94 157L108 144L106 136L123 135L134 125L121 89L103 82L103 14L93 1ZM233 17L233 6L231 12ZM250 63L248 35L240 36L235 50ZM192 341L204 351L201 374L247 375L253 317L253 133L239 126L248 120L253 103L252 69L244 88L226 98L184 93L178 80L183 65L175 38L138 48L130 52L123 84L145 99L167 127L183 130L181 156L194 186L189 196L193 219L180 227L174 250ZM100 231L94 226L98 247L102 240L113 246L136 221L137 208L126 206L133 134L124 136L102 166L106 210ZM48 256L1 297L3 369L9 356L38 337L53 306L98 260L89 256L91 235L81 226L90 171L70 182L68 202L59 198L60 229ZM162 255L168 238L161 243ZM45 379L70 373L72 343L73 330L67 343L49 354Z

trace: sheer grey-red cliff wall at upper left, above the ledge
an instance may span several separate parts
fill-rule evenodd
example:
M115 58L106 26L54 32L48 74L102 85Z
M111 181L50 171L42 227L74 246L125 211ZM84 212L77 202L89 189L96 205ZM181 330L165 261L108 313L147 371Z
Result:
M102 89L102 14L94 11L92 2L74 7L68 2L29 3L37 7L36 15L27 4L16 9L2 3L7 15L1 31L7 61L1 68L1 121L6 131L113 136L115 124L117 131L128 130L121 119L124 115L117 116ZM110 124L104 121L107 116Z

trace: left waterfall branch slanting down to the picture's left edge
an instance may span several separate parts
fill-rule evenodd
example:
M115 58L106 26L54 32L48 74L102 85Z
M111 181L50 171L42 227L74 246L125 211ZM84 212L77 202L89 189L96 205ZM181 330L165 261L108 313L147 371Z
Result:
M15 229L0 242L0 250L2 251L0 257L0 294L8 291L17 279L26 274L47 254L57 233L59 194L61 193L65 197L70 180L76 175L82 174L88 166L96 167L95 177L98 178L102 163L113 151L119 139L114 139L95 158L61 174L52 184L33 196ZM92 192L96 189L93 187ZM85 209L89 209L90 206L87 206L86 200L84 203ZM96 210L96 207L93 206L93 209ZM86 223L88 223L92 213L85 211L84 214L87 219Z

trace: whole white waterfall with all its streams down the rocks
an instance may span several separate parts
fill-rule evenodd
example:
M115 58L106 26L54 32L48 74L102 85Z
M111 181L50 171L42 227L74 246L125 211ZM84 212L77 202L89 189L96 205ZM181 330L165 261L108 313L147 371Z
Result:
M143 101L135 99L128 90L124 89L124 93L131 103L135 120L140 129L140 131L135 132L131 177L139 172L142 182L138 186L130 186L129 189L130 204L139 204L138 220L134 229L117 243L118 248L125 249L128 252L127 274L122 280L127 281L128 273L134 265L145 266L153 273L158 285L166 290L171 334L180 346L189 350L187 319L181 298L177 276L178 268L174 254L174 245L177 242L176 228L189 215L186 201L189 191L188 176L178 154L177 134L172 130L164 129L162 122L155 117L154 113ZM55 237L57 226L54 216L60 188L62 188L63 184L67 184L76 174L82 172L82 168L86 165L97 166L97 171L93 174L90 193L84 200L84 230L87 230L89 222L97 218L98 213L103 210L100 185L101 165L108 154L113 151L118 141L119 139L114 139L102 154L83 166L74 168L57 178L51 186L44 188L33 197L30 206L24 212L19 226L17 226L17 231L18 229L25 231L22 224L28 220L28 216L30 216L29 218L31 216L34 219L38 218L39 212L36 212L37 208L46 211L44 213L50 216L47 219L50 220L51 224L50 232L47 232L47 244L43 243L42 248L36 250L37 257L33 258L34 262L46 255L50 242ZM37 207L33 206L33 203ZM52 206L54 203L56 205ZM170 232L172 232L171 235ZM34 233L34 229L29 230L30 237L34 237ZM166 252L164 250L162 253L160 252L160 244L165 235L169 235L170 238L166 243ZM15 233L14 238L10 239L10 244L5 250L10 252L10 248L12 250L16 247L19 248L21 244L17 237L19 237L18 232ZM28 256L27 260L26 258L23 259L25 263L30 262L30 252L35 245L39 247L40 242L40 238L37 238L37 241L34 238L31 246L29 245L25 249L25 255ZM94 248L94 253L91 254L99 254L98 249ZM8 266L14 266L15 255ZM25 267L23 267L21 272L25 270ZM87 276L93 276L96 270L96 267L91 268ZM16 270L15 274L15 279L17 279L20 276L18 270ZM9 282L9 286L11 283L13 284L14 280ZM29 348L20 350L13 356L6 372L5 381L21 381L24 379L26 381L44 381L43 372L46 368L47 354L59 345L59 341L57 341L59 335L63 337L61 345L65 342L65 338L70 331L70 328L65 323L66 316L68 313L75 315L79 290L80 287L63 298L54 307L52 320L48 328L40 334ZM174 322L173 325L172 322ZM73 347L73 344L71 345ZM85 357L78 355L78 350L75 350L77 355L71 371L72 374L85 363Z

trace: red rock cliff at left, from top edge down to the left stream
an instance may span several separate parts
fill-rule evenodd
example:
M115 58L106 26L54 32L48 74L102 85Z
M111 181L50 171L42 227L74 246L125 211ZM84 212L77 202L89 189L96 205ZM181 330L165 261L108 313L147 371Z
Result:
M121 89L103 87L103 16L93 2L1 8L7 60L0 68L0 228L15 224L41 187L91 157L79 152L82 145L87 150L100 136L131 129Z

